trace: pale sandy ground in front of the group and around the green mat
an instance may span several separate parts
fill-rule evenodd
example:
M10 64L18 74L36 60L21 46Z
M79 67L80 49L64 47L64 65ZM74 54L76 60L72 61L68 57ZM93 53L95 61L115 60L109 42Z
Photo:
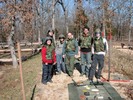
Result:
M74 80L76 82L81 82L87 80L85 76L79 77L80 73L77 70L74 70ZM104 74L107 75L107 74ZM41 73L39 75L39 81L41 81ZM53 83L48 83L44 85L38 81L35 100L69 100L68 94L68 84L72 83L72 79L66 74L62 73L61 75L55 75L53 77ZM119 83L110 82L111 85L120 93L122 98L130 100L124 93L124 87L120 87ZM125 84L125 83L123 83ZM125 85L128 85L126 83Z

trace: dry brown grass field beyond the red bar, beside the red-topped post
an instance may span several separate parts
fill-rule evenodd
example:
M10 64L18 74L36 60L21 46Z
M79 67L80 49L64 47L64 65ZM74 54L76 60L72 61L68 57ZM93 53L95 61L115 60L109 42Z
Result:
M108 55L105 60L105 66L108 65ZM107 68L107 67L106 67ZM111 48L111 72L121 73L133 79L133 55L123 51Z

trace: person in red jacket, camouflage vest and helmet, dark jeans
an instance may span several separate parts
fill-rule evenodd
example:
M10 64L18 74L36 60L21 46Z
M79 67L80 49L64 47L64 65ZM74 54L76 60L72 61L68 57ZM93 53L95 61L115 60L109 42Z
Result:
M46 37L45 45L42 47L42 83L52 82L52 67L56 64L55 47L52 45L52 38Z

